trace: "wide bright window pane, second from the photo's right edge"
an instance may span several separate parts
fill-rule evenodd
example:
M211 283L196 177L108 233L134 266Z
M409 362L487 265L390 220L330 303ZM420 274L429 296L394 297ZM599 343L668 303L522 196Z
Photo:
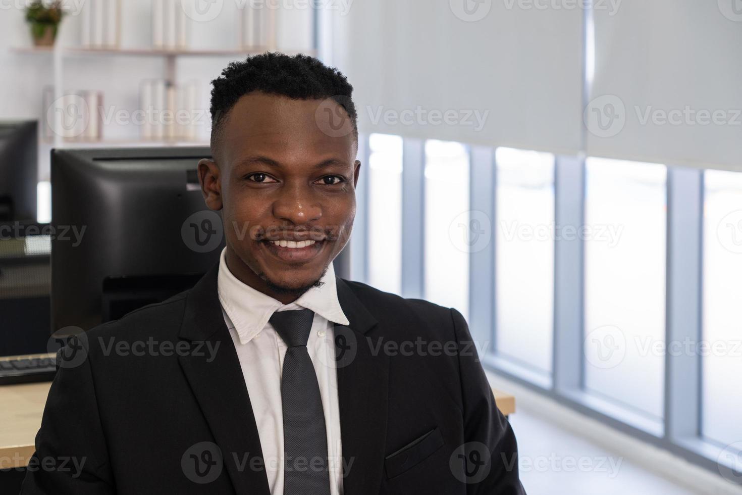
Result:
M663 417L666 168L588 158L585 390Z

